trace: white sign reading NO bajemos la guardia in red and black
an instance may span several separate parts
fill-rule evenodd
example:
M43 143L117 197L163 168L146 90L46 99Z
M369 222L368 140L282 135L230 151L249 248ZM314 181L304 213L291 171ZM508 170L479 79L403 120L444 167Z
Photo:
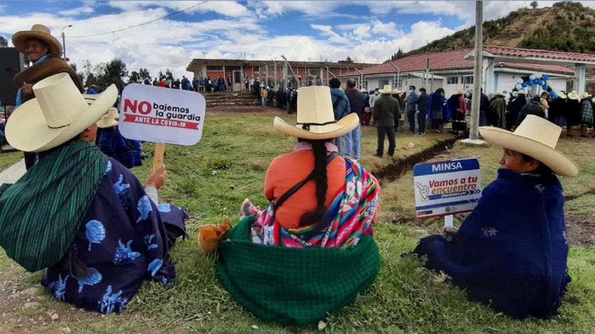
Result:
M155 143L194 145L201 140L205 98L196 92L129 84L120 103L122 136Z

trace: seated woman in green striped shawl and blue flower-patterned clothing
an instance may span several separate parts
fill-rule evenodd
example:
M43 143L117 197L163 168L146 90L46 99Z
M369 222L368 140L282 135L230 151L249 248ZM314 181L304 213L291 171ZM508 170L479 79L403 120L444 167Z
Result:
M33 86L29 100L7 122L8 142L39 152L15 184L0 187L0 246L58 300L102 313L124 310L145 279L169 285L176 276L168 255L184 234L186 213L156 204L165 169L146 187L92 144L96 122L117 89L88 104L65 73Z

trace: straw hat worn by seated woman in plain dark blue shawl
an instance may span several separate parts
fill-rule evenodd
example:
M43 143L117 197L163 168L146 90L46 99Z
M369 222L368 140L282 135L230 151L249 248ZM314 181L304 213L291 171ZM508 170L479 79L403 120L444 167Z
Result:
M574 177L578 174L577 164L556 150L560 133L562 128L536 115L527 115L515 132L480 127L480 135L488 143L533 157L558 175Z

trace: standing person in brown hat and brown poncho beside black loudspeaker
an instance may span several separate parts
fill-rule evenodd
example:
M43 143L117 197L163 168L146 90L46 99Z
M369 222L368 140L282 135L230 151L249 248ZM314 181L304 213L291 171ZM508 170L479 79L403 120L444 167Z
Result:
M35 24L31 30L18 31L12 35L12 44L18 52L33 62L33 66L14 76L14 84L18 87L15 109L30 99L35 98L32 87L37 81L43 80L57 73L68 73L80 92L83 92L83 84L79 76L60 58L62 45L52 36L48 27L42 24ZM27 169L35 163L34 153L24 153L25 167Z

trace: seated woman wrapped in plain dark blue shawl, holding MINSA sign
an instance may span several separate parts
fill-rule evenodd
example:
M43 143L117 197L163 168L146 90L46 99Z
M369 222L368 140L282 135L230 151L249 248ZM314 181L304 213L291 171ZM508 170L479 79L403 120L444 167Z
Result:
M564 194L555 174L571 177L578 166L555 149L562 129L528 115L514 133L481 127L481 136L504 147L496 181L461 228L423 238L415 253L426 267L497 312L517 319L555 316L566 291L568 241Z

